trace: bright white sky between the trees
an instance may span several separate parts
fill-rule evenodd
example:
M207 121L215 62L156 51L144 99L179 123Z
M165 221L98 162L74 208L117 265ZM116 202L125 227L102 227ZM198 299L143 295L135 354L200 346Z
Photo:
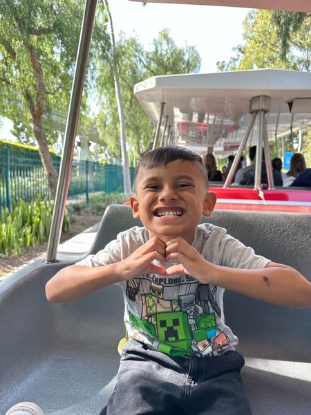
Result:
M232 48L243 42L243 20L250 9L185 4L136 3L109 0L115 34L137 35L148 48L163 28L171 30L178 46L196 46L201 57L200 72L216 72L216 62L228 60ZM11 123L3 120L0 138L13 139Z

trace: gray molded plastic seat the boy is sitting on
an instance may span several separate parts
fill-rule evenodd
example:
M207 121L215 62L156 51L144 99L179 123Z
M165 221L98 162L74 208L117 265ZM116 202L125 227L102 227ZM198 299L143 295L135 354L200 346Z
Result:
M218 210L207 219L311 279L310 215ZM129 206L111 205L91 252L138 224ZM46 415L95 415L111 394L124 334L122 293L109 286L76 302L49 304L45 284L68 264L39 266L0 284L0 414L32 400ZM254 415L310 414L310 309L227 292L225 313L246 359Z

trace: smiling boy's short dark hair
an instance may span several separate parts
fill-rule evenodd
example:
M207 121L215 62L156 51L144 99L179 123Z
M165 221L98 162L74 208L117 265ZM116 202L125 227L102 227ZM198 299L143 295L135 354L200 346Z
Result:
M164 147L158 147L158 149L147 151L142 158L140 158L140 161L136 167L135 177L138 177L141 167L144 167L147 170L154 169L159 166L167 166L175 160L187 160L198 163L202 170L202 177L205 179L207 186L209 185L202 157L194 153L194 151L185 149L185 147L179 147L177 145L167 145Z

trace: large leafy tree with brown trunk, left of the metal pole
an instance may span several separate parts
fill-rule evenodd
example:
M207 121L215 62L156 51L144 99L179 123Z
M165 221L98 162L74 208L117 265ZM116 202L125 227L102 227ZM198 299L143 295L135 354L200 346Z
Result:
M53 199L57 174L49 146L66 120L83 3L1 0L0 113L22 141L35 136Z

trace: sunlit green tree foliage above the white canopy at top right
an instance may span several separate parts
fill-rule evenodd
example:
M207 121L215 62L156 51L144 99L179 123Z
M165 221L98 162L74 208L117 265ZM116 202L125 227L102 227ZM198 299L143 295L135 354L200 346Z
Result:
M235 71L282 68L310 71L311 13L302 15L292 12L252 10L247 14L243 24L245 43L233 49L236 55L231 57L229 62L218 62L218 69ZM287 31L283 24L286 24ZM283 30L286 31L286 47Z

